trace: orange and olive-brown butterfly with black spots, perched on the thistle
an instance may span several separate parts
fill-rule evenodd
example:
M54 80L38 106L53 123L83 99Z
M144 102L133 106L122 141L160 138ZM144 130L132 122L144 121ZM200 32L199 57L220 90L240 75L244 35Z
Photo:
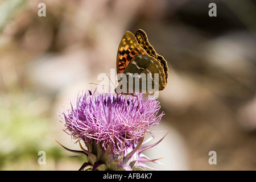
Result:
M123 35L117 52L117 75L116 93L134 96L166 88L167 61L156 53L143 30Z

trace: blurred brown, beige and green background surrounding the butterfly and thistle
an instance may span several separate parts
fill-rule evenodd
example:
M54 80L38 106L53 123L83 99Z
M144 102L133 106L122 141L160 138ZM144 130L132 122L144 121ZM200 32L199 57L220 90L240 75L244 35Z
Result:
M255 170L255 10L252 0L0 1L0 170L80 168L84 159L67 158L73 154L55 142L79 148L58 113L94 88L98 74L110 74L123 34L138 28L170 75L158 98L165 115L152 128L169 134L147 153L164 157L154 167Z

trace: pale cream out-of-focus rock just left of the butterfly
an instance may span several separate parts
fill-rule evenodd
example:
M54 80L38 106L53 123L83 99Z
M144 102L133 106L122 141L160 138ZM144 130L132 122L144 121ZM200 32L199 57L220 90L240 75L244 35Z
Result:
M59 55L45 54L26 65L27 79L35 89L56 93L72 87L92 73L88 64L88 55L83 49L76 49Z

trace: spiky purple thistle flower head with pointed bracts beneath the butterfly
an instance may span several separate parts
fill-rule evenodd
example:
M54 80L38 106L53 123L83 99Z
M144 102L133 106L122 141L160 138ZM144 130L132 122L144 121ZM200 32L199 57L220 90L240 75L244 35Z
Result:
M158 144L141 147L145 135L151 135L150 127L158 125L163 113L158 114L159 102L142 98L138 94L123 96L121 94L105 95L86 91L79 94L71 109L64 107L61 122L65 130L79 142L81 151L75 152L86 157L81 169L89 170L137 170L150 168L143 162L155 162L142 151ZM86 149L82 147L84 142ZM59 142L58 142L59 143Z

